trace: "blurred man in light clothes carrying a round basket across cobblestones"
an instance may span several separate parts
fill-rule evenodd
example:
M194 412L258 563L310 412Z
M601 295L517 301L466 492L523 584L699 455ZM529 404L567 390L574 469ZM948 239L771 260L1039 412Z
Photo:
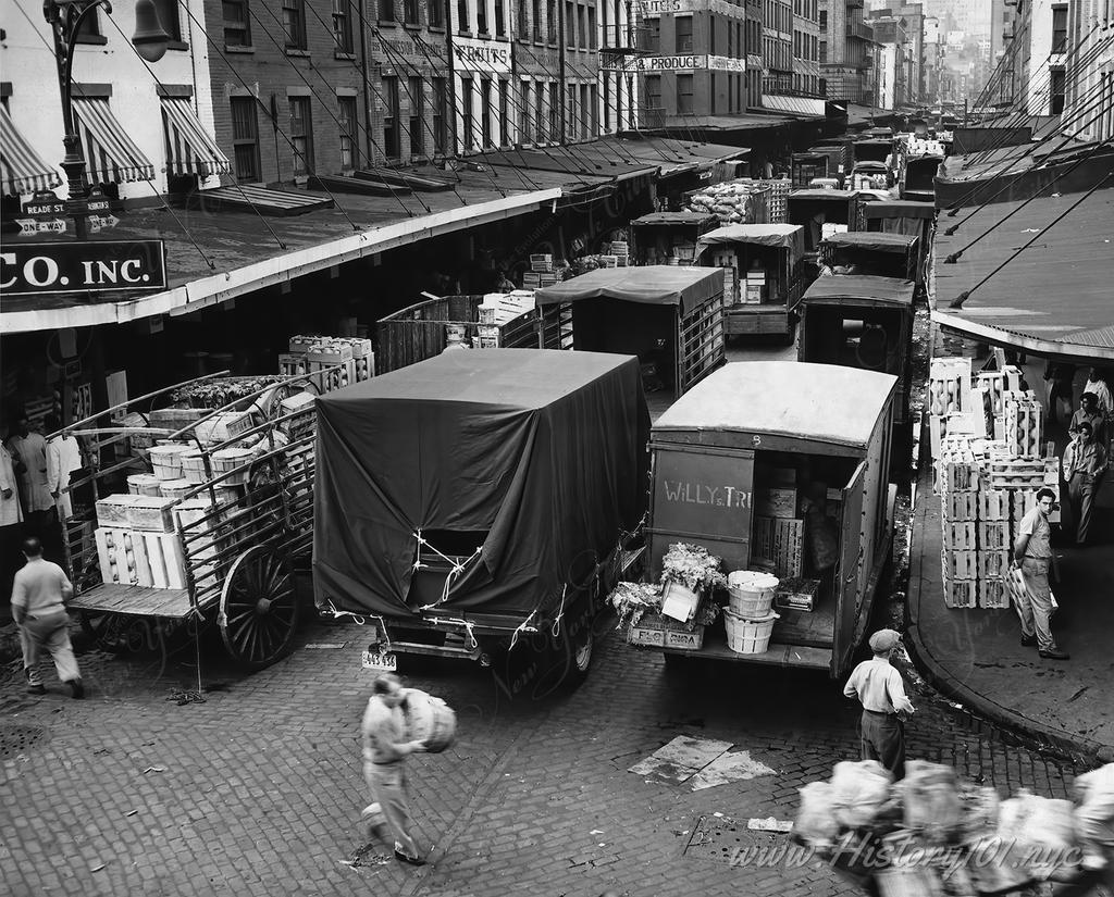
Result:
M394 858L411 866L424 866L411 831L410 801L403 763L414 751L426 750L422 741L405 740L402 704L405 689L393 673L383 673L372 686L363 714L363 775L372 799L379 804L394 835Z

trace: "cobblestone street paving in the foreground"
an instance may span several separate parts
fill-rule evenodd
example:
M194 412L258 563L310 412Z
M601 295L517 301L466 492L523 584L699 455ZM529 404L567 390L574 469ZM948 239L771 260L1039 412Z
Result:
M204 703L177 703L192 673L172 663L158 679L154 654L86 653L84 702L57 683L26 697L18 663L9 667L0 720L9 893L853 893L814 862L730 864L737 848L786 842L745 831L749 818L793 818L801 785L857 758L857 712L836 684L745 664L667 669L617 633L571 696L536 700L527 687L511 700L514 681L471 666L401 669L457 710L458 741L410 766L430 864L412 869L377 854L359 825L359 718L372 680L360 666L364 633L310 627L291 658L254 676L221 669L212 651ZM979 735L927 694L915 702L911 757L955 763L1003 793L1066 795L1071 766ZM678 735L730 741L775 773L694 792L626 771Z

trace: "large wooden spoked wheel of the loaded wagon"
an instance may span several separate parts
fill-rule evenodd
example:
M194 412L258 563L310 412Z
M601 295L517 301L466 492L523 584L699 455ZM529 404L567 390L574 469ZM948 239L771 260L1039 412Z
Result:
M289 653L302 619L290 561L266 545L241 554L224 581L217 627L228 653L261 670Z

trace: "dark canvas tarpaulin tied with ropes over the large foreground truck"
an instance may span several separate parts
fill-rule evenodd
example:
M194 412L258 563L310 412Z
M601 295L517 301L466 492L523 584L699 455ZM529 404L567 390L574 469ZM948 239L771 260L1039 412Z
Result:
M643 513L648 427L637 359L584 352L460 349L321 396L319 604L414 614L418 534L452 531L481 550L439 607L555 611Z

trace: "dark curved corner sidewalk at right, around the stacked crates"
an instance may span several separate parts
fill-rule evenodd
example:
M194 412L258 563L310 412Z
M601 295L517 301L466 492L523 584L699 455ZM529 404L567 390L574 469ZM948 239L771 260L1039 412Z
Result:
M912 523L906 641L941 692L996 722L1074 755L1114 760L1114 489L1096 510L1098 545L1057 548L1061 610L1053 619L1068 661L1042 660L1019 643L1016 612L949 609L940 571L940 501L921 466ZM1054 545L1055 546L1055 545Z

